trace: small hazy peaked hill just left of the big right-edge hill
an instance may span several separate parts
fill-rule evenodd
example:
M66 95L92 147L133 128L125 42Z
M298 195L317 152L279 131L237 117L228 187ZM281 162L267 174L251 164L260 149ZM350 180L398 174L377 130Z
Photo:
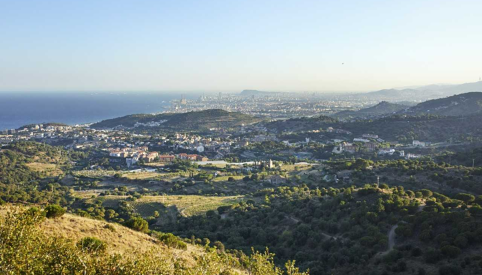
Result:
M378 118L385 115L392 115L393 113L397 113L398 111L404 110L406 108L408 108L408 106L382 101L373 107L368 107L366 109L361 109L358 111L340 111L338 113L335 113L333 116L335 118L343 119Z

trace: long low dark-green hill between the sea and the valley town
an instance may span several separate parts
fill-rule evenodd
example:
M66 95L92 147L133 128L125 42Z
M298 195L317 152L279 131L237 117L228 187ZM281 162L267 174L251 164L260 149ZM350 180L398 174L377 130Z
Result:
M260 119L239 112L220 109L191 111L188 113L162 113L158 115L136 114L103 120L92 124L92 129L147 129L160 131L203 131L210 128L231 128L241 124L258 122Z

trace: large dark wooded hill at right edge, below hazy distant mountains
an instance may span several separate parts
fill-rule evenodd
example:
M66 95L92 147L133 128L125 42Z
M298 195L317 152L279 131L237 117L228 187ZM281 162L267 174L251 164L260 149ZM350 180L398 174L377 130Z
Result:
M421 102L414 107L402 111L410 115L432 114L432 115L473 115L482 111L482 92L471 92Z

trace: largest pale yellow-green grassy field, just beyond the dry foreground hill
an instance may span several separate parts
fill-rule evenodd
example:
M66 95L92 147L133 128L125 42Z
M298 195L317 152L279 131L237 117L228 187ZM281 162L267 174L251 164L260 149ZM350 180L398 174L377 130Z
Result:
M118 202L127 199L127 196L105 196L102 205L107 208L116 208ZM154 215L154 211L163 213L166 208L176 209L185 217L205 214L209 210L216 210L220 206L227 206L242 201L242 196L231 197L203 197L196 195L184 196L145 196L137 201L129 201L129 205L142 217ZM172 206L175 206L172 208Z

